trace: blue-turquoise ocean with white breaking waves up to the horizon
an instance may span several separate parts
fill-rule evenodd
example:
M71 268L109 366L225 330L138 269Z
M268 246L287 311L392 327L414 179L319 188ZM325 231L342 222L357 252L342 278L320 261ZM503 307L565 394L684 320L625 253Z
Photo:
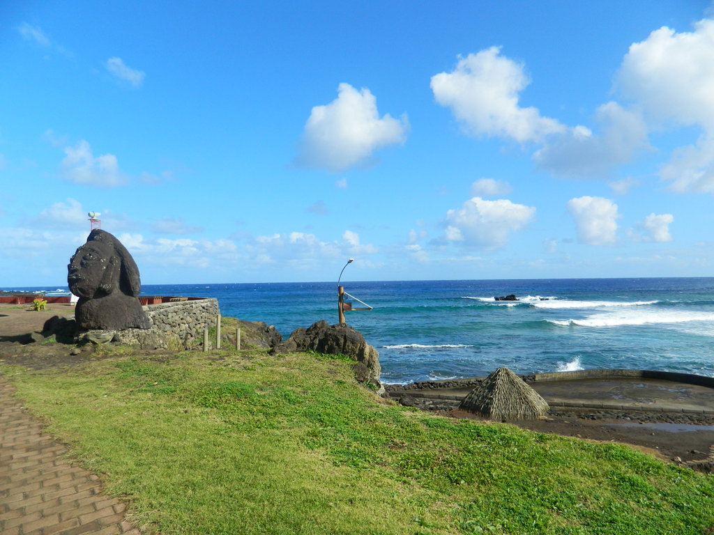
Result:
M346 321L377 348L386 383L483 376L501 366L714 377L714 277L342 284L373 307L346 312ZM216 297L223 315L275 325L283 338L318 320L338 322L335 282L144 285L142 293ZM518 301L494 300L510 294Z

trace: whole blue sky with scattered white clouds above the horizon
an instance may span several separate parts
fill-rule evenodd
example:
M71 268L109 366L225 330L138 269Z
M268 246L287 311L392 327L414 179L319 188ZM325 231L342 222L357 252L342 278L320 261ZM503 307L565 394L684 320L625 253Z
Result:
M643 5L1 6L0 286L89 211L145 284L712 275L713 5Z

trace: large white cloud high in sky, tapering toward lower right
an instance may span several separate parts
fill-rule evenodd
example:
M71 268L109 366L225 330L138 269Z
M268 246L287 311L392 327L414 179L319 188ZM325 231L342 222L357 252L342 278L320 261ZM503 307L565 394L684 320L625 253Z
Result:
M523 143L563 131L558 121L540 116L537 108L519 106L519 94L530 81L523 65L499 56L500 51L492 46L469 54L451 73L432 76L436 101L451 108L473 136L501 136Z

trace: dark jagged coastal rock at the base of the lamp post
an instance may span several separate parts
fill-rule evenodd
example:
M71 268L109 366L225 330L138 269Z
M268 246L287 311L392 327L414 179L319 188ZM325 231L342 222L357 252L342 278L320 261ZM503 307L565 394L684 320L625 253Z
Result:
M288 340L278 345L273 352L288 353L293 351L317 351L328 355L346 355L356 362L352 370L358 382L379 395L384 394L384 387L379 380L381 367L379 353L365 342L361 332L342 323L328 325L325 320L313 323L307 329L300 327L292 332Z

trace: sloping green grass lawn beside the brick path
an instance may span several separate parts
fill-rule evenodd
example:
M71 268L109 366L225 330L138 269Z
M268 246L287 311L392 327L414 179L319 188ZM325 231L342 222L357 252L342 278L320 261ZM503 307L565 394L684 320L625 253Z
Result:
M714 477L386 404L339 358L120 354L0 372L164 535L714 533Z

